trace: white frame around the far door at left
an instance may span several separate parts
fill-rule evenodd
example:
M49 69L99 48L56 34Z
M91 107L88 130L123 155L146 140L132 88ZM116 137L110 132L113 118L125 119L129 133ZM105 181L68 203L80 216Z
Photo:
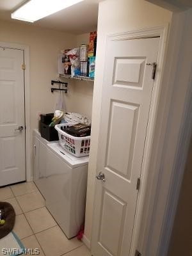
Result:
M30 77L29 77L29 46L10 42L0 42L0 46L9 49L24 51L24 112L26 125L26 181L32 180L31 173L31 125L30 125Z

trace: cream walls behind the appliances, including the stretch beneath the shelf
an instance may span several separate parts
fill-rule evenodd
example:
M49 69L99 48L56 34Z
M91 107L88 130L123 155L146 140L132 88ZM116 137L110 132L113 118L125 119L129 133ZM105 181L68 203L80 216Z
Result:
M1 42L28 45L30 51L30 108L31 134L38 127L37 113L54 111L58 92L51 93L51 80L58 79L58 53L61 49L72 49L88 44L89 33L71 35L52 29L39 28L31 24L0 20ZM63 79L68 82L68 93L64 94L66 110L82 113L91 118L93 82ZM32 174L32 173L31 173Z

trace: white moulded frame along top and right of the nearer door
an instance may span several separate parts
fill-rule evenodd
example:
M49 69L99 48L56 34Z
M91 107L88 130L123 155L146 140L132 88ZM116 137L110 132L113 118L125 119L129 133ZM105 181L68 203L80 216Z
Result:
M138 193L138 200L136 204L136 216L134 219L134 228L132 231L132 242L130 255L134 255L136 248L138 248L138 240L140 237L141 221L143 219L142 212L145 204L145 191L148 186L148 171L150 164L150 157L152 156L152 145L154 138L154 131L156 128L157 110L159 109L159 99L162 89L162 78L164 70L164 59L166 57L167 41L169 33L169 24L165 26L159 26L156 28L140 29L138 31L130 31L125 33L118 33L113 35L108 35L106 44L108 40L131 40L140 38L153 38L159 36L159 51L157 56L157 72L156 79L154 80L154 88L152 92L152 100L150 106L150 113L147 125L147 136L145 140L145 149L143 155L143 163L141 166L141 186ZM97 152L98 154L98 152ZM94 199L95 200L95 199ZM93 230L92 230L93 231ZM86 234L83 241L89 245L86 241Z

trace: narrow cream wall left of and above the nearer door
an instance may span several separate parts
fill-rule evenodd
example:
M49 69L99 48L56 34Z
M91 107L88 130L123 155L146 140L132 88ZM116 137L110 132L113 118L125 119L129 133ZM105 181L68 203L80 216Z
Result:
M106 0L99 4L97 58L92 111L92 148L88 170L85 237L91 239L97 147L99 141L100 106L104 78L106 36L136 29L162 26L172 19L172 13L143 0Z

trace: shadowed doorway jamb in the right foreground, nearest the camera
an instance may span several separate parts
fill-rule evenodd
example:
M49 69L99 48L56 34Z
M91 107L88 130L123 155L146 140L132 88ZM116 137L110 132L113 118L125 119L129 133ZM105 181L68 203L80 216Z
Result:
M163 95L154 137L148 194L138 248L142 255L164 256L177 211L192 136L192 10L173 12L163 72ZM152 158L151 157L151 158Z

